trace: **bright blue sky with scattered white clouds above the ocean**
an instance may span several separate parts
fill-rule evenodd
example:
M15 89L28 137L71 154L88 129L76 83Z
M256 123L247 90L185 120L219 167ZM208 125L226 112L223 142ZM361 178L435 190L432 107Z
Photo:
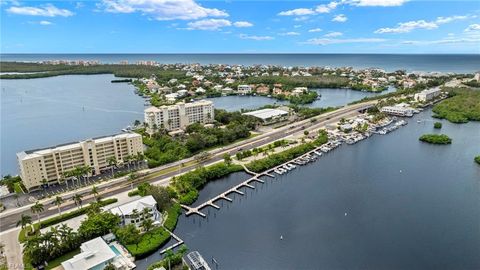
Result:
M480 1L0 0L2 53L473 53Z

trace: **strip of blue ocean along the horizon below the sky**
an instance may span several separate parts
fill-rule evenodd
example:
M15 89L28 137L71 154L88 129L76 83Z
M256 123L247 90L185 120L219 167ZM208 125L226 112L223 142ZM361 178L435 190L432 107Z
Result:
M1 54L2 61L99 60L281 66L351 66L423 72L480 71L480 54Z

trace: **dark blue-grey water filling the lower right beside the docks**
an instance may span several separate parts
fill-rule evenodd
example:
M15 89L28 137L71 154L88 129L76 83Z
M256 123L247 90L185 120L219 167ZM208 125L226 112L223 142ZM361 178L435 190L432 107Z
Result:
M219 269L480 269L480 123L442 123L452 145L418 141L439 132L423 112L231 195L206 219L182 216L175 232Z

